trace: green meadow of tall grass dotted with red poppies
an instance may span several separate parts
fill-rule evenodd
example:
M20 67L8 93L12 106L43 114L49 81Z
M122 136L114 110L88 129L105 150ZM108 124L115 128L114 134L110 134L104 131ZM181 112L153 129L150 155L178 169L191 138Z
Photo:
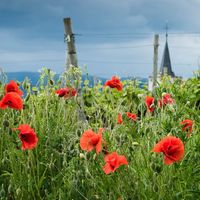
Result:
M18 83L19 109L2 103L7 84L1 75L0 199L200 199L199 71L150 92L135 80L91 86L78 68L55 81L43 69L36 86Z

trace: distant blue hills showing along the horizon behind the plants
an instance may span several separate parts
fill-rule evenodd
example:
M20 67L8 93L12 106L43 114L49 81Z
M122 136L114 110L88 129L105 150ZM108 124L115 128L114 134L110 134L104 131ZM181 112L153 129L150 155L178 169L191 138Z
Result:
M31 80L32 85L36 85L39 77L40 77L40 73L39 72L7 72L6 76L8 78L8 81L10 80L15 80L15 81L20 81L22 82L26 77L29 78ZM56 74L55 75L55 81L58 80L60 74ZM106 82L106 78L102 78L102 77L96 77L96 76L86 76L83 75L83 81L85 79L89 79L90 85L94 84L94 80L101 80L102 83L104 84ZM121 80L126 80L126 79L131 79L130 77L122 77ZM146 84L148 82L147 78L134 78L138 81L140 81L142 83L142 85Z

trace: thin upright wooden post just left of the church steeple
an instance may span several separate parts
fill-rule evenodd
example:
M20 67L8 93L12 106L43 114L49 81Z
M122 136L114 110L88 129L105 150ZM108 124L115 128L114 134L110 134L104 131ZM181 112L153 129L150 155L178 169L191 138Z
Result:
M154 35L154 57L153 57L153 88L156 86L157 83L157 69L158 69L158 40L159 40L159 35L155 34Z

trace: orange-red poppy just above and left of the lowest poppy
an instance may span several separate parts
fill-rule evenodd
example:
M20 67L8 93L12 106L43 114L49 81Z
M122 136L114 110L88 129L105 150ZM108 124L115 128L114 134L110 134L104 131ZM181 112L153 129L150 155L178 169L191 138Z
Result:
M93 132L91 129L86 130L80 139L81 149L84 151L96 149L98 154L102 149L102 133L103 128L100 128L98 133Z

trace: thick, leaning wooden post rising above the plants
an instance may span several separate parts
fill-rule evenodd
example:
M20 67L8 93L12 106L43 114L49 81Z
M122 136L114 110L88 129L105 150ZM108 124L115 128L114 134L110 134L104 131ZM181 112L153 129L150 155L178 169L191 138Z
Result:
M71 18L64 18L64 27L65 42L67 43L66 69L69 69L71 65L78 67L78 60L75 48L75 37L72 32Z

